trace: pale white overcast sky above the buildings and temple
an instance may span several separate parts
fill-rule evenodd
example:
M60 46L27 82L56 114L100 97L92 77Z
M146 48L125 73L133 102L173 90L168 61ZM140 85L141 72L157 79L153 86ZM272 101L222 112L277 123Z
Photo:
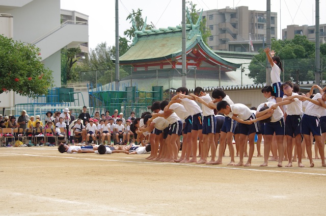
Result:
M227 6L248 6L249 10L266 10L264 0L193 0L197 9L213 10ZM278 38L280 32L287 25L314 25L314 0L271 0L271 12L278 13ZM280 6L281 5L281 6ZM61 0L61 8L74 10L89 15L89 47L95 48L97 44L106 42L115 44L115 1L114 0ZM181 0L119 0L119 35L129 29L131 24L126 20L129 13L142 9L142 15L147 16L147 23L151 22L156 28L176 26L182 20ZM326 23L326 1L320 1L320 24ZM281 17L280 17L281 14ZM281 22L281 28L279 28Z

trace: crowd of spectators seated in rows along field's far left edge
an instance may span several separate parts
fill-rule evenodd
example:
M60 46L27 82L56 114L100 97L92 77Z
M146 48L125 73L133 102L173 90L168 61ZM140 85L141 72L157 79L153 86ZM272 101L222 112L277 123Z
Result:
M48 111L44 119L45 124L40 115L28 116L25 110L21 111L17 119L13 115L0 114L0 128L12 129L11 133L3 133L1 129L1 141L4 141L3 138L6 136L16 137L16 139L7 139L7 142L2 142L1 146L10 147L15 140L22 141L20 146L55 146L58 142L78 142L86 145L92 143L127 144L133 140L130 124L134 119L134 112L131 112L126 120L123 113L119 113L118 110L115 110L113 115L110 115L110 111L102 115L95 112L95 115L91 117L86 106L77 118L70 115L67 107L62 112ZM15 130L15 128L22 129ZM18 136L16 133L19 133ZM20 136L27 139L19 139Z

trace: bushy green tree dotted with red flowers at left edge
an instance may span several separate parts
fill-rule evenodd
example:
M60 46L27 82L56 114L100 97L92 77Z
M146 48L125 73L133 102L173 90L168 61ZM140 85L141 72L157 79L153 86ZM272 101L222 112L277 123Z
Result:
M23 96L47 94L52 71L41 62L40 49L0 35L0 93L14 91Z

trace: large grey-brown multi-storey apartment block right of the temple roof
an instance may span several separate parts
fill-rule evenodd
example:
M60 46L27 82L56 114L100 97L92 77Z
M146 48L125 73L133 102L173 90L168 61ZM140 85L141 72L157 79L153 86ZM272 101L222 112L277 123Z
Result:
M249 10L247 6L226 7L203 11L206 28L211 36L207 38L208 46L213 50L252 51L266 43L266 11ZM271 12L271 38L277 38L277 13Z

